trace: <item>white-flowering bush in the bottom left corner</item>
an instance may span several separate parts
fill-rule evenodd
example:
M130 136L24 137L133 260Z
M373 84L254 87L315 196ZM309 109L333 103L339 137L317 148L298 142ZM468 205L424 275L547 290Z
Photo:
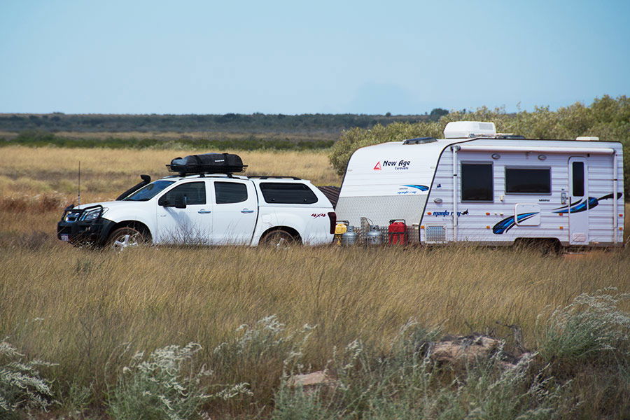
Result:
M18 409L45 410L50 405L50 381L41 377L38 368L53 364L22 358L6 339L0 342L0 419Z

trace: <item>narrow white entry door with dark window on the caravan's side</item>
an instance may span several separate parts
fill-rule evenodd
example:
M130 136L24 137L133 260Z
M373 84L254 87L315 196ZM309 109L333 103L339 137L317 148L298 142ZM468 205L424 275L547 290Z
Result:
M569 158L569 244L589 244L589 167L586 158Z

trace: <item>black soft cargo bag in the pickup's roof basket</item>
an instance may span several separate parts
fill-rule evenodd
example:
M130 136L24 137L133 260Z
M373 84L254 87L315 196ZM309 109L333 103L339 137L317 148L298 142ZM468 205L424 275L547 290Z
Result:
M186 174L232 174L243 172L247 165L233 153L204 153L175 158L167 165L169 171Z

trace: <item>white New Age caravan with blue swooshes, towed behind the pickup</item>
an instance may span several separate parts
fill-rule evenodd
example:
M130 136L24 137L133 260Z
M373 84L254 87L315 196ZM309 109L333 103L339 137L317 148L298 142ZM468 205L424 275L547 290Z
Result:
M494 123L449 123L444 139L367 146L350 158L337 217L404 219L421 244L623 244L622 145L596 137L531 140Z

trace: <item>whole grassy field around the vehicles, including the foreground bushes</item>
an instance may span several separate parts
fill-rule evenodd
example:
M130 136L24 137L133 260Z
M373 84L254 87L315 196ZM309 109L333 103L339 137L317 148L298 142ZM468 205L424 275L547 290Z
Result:
M0 419L630 418L627 247L116 253L55 238L78 161L90 202L190 153L2 148ZM340 183L324 151L238 153L249 174ZM473 332L503 351L426 357ZM330 380L294 386L316 370Z

